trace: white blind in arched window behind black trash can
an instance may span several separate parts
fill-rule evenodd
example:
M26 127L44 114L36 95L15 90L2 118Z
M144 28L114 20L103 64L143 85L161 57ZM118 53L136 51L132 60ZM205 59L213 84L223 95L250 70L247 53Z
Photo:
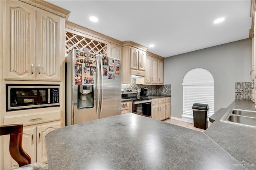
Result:
M214 80L206 69L192 69L183 78L183 115L184 121L193 122L194 103L209 106L208 117L214 114Z

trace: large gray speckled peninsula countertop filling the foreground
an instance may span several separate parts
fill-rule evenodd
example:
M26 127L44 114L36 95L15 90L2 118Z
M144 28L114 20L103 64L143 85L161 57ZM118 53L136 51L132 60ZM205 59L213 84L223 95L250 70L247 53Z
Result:
M226 129L217 136L222 133ZM209 136L207 132L126 113L58 128L48 133L45 141L50 170L247 168L240 164L245 159L236 160ZM226 142L233 147L232 141ZM255 145L251 150L255 152Z

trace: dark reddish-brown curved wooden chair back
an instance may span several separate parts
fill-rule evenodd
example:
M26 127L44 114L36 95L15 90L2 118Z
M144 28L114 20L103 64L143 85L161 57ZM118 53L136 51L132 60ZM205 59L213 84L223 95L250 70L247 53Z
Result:
M10 134L10 155L18 162L19 166L31 164L30 156L22 149L23 124L2 125L0 130L0 135Z

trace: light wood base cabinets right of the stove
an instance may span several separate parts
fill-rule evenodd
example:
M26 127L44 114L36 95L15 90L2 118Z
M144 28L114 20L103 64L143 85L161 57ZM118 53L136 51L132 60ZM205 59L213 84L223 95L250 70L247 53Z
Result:
M152 99L151 118L156 120L165 120L171 116L171 97L162 97Z

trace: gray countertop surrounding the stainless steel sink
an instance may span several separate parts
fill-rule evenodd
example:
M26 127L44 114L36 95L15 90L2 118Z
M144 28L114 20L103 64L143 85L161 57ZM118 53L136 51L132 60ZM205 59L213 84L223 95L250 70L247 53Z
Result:
M256 169L256 128L220 122L228 109L256 111L252 101L235 100L228 108L219 109L210 117L212 125L205 134L247 169Z

